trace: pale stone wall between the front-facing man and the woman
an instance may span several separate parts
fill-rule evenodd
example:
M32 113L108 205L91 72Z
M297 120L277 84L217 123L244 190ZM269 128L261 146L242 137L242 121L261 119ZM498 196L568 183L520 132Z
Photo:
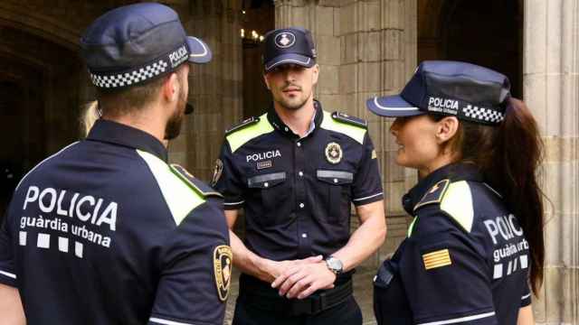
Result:
M329 111L368 120L384 178L388 236L375 266L405 237L409 218L401 204L416 173L394 163L397 146L390 122L369 113L365 100L398 92L416 66L416 1L278 0L276 27L304 26L318 49L320 78L316 97ZM355 225L356 227L356 225Z

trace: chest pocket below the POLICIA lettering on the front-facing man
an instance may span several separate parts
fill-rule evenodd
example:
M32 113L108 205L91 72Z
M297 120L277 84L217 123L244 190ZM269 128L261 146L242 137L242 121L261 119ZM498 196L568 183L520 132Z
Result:
M283 216L281 206L286 204L290 190L287 189L286 172L259 174L247 179L247 187L253 192L256 207L261 211L256 214L258 223L263 226L275 226Z

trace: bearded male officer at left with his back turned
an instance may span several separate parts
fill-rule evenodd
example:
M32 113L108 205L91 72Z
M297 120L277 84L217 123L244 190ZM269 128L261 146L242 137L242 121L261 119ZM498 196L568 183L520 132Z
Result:
M8 285L28 324L222 324L232 254L221 195L167 164L161 143L179 133L188 62L211 51L158 4L102 15L81 48L102 118L17 186L0 304L17 301Z

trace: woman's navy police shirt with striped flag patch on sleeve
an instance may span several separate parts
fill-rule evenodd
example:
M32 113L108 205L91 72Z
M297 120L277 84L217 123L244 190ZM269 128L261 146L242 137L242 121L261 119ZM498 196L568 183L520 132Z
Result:
M403 205L415 218L375 278L379 323L516 324L530 304L528 243L476 167L432 172Z

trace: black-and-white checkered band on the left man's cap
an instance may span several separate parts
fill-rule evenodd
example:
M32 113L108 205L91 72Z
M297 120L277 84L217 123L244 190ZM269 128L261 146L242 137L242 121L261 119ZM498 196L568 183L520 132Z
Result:
M90 73L92 83L99 88L120 88L130 86L147 79L155 78L167 70L168 63L165 60L139 68L138 70L120 73L117 75L100 76Z

